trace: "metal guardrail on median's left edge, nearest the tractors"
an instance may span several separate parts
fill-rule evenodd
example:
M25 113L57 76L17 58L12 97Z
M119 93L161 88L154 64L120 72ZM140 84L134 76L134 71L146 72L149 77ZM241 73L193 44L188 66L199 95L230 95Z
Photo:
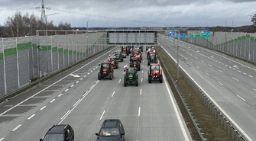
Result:
M164 68L167 70L168 76L169 76L170 80L173 82L173 85L174 85L174 87L175 87L175 89L176 89L178 95L180 96L180 100L182 101L183 106L186 108L187 113L190 115L190 119L192 120L194 127L196 127L196 130L197 130L197 132L199 133L200 138L201 138L203 141L208 141L209 139L206 139L205 133L203 133L202 129L199 127L199 123L196 122L196 121L197 121L197 120L196 120L196 117L193 116L193 112L190 110L189 104L187 104L185 98L183 98L182 92L180 91L179 86L178 86L177 83L175 82L175 79L173 78L172 75L170 75L169 69L168 69L167 66L165 65L165 63L164 63L163 59L161 58L161 56L158 55L158 53L157 53L157 56L160 58L160 61L163 62L163 63L161 63L161 65L163 64L163 65L164 65Z

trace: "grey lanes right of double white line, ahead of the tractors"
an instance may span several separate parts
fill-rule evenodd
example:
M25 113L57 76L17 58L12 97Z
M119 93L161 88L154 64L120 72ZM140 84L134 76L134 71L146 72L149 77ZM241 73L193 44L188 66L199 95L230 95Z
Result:
M120 66L126 63L126 60L120 62ZM93 88L89 95L98 99L97 102L86 104L87 100L91 101L90 98L81 101L63 120L62 123L73 125L76 140L96 140L95 133L107 118L122 120L126 140L192 140L186 126L183 127L186 124L180 111L173 107L177 104L170 101L171 94L165 83L147 83L146 63L144 59L143 67L138 72L138 87L123 86L123 69L120 68L115 72L114 80L100 81ZM87 106L94 110L86 111Z

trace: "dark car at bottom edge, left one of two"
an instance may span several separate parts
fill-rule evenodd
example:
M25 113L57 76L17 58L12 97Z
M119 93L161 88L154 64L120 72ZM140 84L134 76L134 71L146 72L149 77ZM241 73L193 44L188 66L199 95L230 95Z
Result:
M53 125L40 141L73 141L75 133L69 124Z

